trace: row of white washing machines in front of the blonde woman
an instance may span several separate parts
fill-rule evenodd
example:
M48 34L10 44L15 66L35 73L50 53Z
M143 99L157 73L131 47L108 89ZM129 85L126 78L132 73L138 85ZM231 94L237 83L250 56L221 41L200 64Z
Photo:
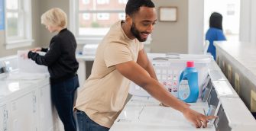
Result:
M18 72L17 56L0 62L9 71L0 74L0 131L63 130L51 104L49 77Z

